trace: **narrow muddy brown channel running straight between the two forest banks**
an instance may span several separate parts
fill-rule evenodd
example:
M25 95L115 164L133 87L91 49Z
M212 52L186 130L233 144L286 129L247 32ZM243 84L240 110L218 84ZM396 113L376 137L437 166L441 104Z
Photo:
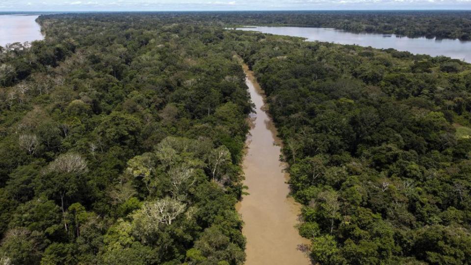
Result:
M264 97L254 74L244 65L256 118L247 139L248 151L243 161L245 195L237 205L242 215L242 233L247 238L246 265L307 265L308 257L300 250L309 240L299 236L294 227L300 205L288 197L288 174L280 162L281 141L276 128L263 110Z

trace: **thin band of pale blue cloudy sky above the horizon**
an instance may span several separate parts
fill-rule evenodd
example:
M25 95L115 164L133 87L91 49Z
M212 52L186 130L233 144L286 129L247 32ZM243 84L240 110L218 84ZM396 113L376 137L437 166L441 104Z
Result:
M0 0L0 11L471 9L471 0Z

